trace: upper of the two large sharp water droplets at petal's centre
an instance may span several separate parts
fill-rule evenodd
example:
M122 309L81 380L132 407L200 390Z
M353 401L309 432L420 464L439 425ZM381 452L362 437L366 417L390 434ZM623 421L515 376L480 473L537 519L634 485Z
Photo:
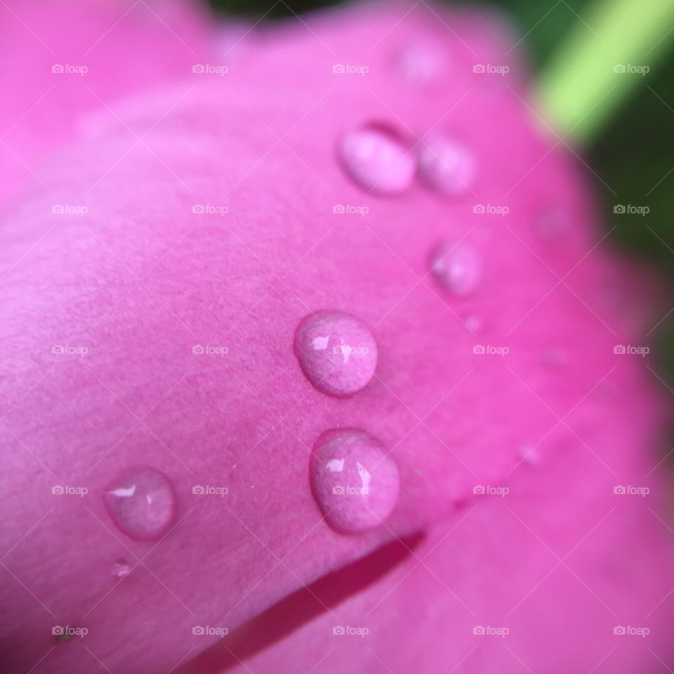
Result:
M377 366L372 333L342 312L320 311L305 317L295 332L294 349L308 380L329 395L361 390Z

